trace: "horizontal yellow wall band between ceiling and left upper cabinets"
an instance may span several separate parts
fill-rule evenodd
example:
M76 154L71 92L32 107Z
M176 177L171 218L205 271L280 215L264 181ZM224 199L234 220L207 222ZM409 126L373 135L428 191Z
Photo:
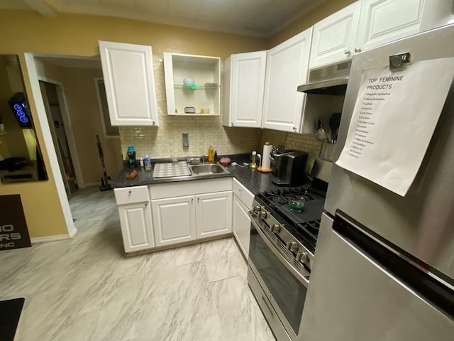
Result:
M227 58L263 50L265 38L181 28L107 16L0 10L1 53L99 55L98 40L150 45L153 53L184 52Z

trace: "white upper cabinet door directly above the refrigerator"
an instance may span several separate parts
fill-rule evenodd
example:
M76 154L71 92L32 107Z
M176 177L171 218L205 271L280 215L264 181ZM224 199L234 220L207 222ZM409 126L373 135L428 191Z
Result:
M429 28L452 18L452 0L362 0L355 52Z

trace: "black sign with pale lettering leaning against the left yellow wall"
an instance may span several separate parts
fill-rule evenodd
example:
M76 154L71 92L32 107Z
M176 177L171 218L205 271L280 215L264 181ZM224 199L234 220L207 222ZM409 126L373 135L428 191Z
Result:
M31 247L21 195L0 195L0 251Z

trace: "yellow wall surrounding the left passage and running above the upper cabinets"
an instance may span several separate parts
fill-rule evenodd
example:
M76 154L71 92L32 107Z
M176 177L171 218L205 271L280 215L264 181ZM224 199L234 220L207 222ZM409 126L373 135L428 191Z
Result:
M142 21L105 16L60 14L47 18L31 11L0 10L0 53L20 55L26 92L38 141L43 146L43 134L36 119L35 100L25 72L23 53L57 55L99 55L98 40L151 45L153 53L179 52L216 55L226 58L267 48L265 38L238 36L228 33L179 28ZM44 148L43 148L44 149ZM43 151L49 180L36 183L0 185L0 195L20 194L31 237L66 234L54 174L50 171L48 153ZM55 174L60 176L60 174Z

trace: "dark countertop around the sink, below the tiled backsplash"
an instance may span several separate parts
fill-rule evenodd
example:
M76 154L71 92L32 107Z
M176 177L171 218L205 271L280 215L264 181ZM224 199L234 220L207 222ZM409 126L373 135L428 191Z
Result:
M240 165L243 165L243 162L250 162L249 156L230 156L232 161L237 162ZM169 162L169 161L167 161ZM154 164L153 164L154 167ZM215 179L215 178L228 178L234 177L240 183L242 183L245 188L248 188L251 193L254 195L259 192L264 192L265 190L271 190L277 188L276 185L271 183L271 174L262 173L257 170L257 168L250 168L249 166L240 167L240 166L226 166L227 170L230 173L223 174L212 174L212 175L188 175L178 178L158 178L153 179L153 170L145 171L145 168L128 168L127 165L123 166L121 172L117 177L111 182L113 188L124 188L124 187L133 187L141 185L153 185L153 183L176 183L179 181L191 181L191 180L205 180L205 179ZM132 180L126 180L126 175L135 169L137 171L137 176Z

